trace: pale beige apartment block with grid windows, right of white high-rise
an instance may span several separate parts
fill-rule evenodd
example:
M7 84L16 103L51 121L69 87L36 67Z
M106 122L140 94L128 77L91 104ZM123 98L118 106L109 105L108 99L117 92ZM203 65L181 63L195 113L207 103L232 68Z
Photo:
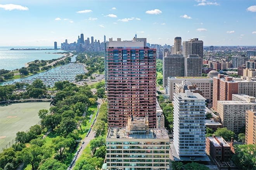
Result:
M223 128L235 133L246 125L246 111L256 109L255 97L233 94L232 100L218 101L217 112Z

